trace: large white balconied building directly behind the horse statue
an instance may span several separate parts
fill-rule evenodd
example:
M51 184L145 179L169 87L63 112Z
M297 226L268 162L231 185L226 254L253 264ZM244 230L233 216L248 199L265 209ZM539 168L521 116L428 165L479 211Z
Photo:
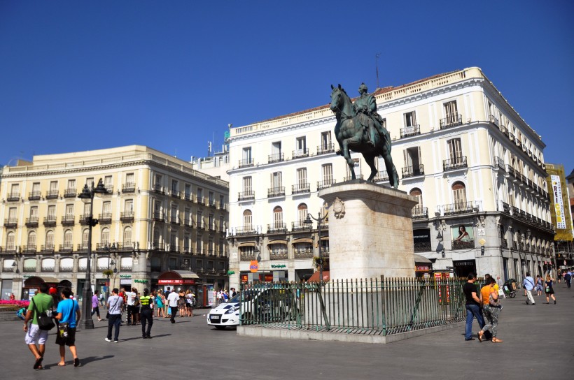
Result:
M347 86L355 94L358 84ZM393 140L399 189L419 198L416 254L459 276L520 279L551 267L545 144L479 68L374 95ZM319 189L349 177L335 154L335 122L324 105L231 129L230 286L305 278L319 247L328 254L327 228L319 238L316 222L304 219L323 212ZM353 159L356 174L366 178L362 156ZM377 182L388 186L384 170ZM253 260L259 261L254 275Z

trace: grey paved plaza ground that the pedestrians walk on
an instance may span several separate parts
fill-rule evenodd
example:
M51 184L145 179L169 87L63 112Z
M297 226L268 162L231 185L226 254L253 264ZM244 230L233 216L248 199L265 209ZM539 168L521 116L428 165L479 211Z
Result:
M78 331L80 367L59 360L50 332L44 370L33 370L22 323L1 322L1 379L545 379L574 373L574 288L556 285L557 305L524 305L524 292L503 300L498 337L465 342L464 325L391 344L258 339L193 318L155 319L153 339L123 327L118 344L104 341L107 322ZM105 312L104 312L105 314ZM475 322L473 332L477 333Z

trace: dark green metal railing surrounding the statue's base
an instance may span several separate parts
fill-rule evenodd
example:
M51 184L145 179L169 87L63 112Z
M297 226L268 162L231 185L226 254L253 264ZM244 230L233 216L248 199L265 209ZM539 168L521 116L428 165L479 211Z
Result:
M465 321L466 282L381 278L242 284L241 326L371 335L443 326Z

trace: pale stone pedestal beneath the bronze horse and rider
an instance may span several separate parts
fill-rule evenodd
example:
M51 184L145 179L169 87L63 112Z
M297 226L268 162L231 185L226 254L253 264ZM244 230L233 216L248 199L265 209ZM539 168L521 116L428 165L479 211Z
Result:
M319 196L329 205L330 279L414 277L414 196L363 180Z

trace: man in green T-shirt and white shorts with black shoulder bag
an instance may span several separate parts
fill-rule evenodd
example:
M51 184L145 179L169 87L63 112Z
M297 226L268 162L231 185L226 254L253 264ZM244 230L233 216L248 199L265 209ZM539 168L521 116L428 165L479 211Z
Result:
M54 300L48 294L48 285L45 283L40 284L38 287L38 293L32 297L24 319L24 331L26 332L24 340L36 360L34 363L34 370L42 368L42 360L45 353L45 341L48 339L48 331L40 330L38 326L38 314L49 310L51 311L52 305L54 305ZM28 326L28 322L30 320L32 323Z

